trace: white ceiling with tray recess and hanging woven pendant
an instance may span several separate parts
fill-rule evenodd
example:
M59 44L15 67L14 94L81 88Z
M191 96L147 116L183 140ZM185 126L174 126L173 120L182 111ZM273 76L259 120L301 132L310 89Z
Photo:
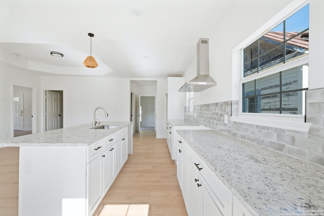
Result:
M195 58L198 39L240 1L2 0L0 61L45 75L178 76ZM94 69L83 65L89 32Z

